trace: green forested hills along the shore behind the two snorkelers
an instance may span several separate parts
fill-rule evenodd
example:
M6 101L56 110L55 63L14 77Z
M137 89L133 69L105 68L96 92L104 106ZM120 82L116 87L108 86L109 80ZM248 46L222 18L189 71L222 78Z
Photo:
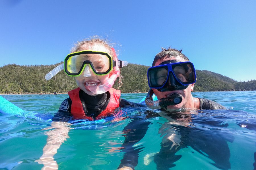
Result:
M0 67L0 93L67 93L77 88L75 78L60 71L51 80L46 81L44 76L51 71L54 65L16 65L9 64ZM123 86L122 93L147 92L147 69L149 66L131 64L121 68ZM194 91L241 91L256 90L256 80L237 82L229 77L222 76L207 70L196 70L197 82ZM114 84L118 89L119 84Z

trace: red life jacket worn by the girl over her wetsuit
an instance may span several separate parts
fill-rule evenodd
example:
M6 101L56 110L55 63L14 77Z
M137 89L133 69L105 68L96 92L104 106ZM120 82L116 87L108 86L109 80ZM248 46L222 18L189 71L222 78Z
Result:
M76 88L68 92L69 97L72 101L71 114L75 119L93 120L92 117L86 116L86 114L84 113L83 105L79 97L79 91L80 88ZM110 101L108 103L108 106L96 117L96 119L101 119L102 117L110 115L111 111L113 111L116 107L119 107L119 98L121 96L120 90L115 90L114 88L111 88L108 92L110 93Z

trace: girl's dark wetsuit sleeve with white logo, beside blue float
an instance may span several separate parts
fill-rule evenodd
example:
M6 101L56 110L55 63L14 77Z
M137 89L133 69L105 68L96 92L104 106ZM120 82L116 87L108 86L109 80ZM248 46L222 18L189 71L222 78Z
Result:
M69 119L72 117L71 114L71 99L67 98L65 99L60 107L57 113L55 113L54 117L52 118L53 121L58 122L68 122Z

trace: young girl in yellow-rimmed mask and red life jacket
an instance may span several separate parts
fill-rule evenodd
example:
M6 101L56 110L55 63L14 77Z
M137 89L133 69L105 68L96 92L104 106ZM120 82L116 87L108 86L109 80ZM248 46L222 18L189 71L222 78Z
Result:
M60 145L69 138L70 119L97 120L113 114L117 107L142 106L120 98L120 90L112 86L120 75L119 67L125 66L118 61L114 48L106 41L94 37L78 42L64 61L67 75L75 76L78 88L68 92L58 112L53 117L43 155L36 162L44 164L42 169L57 169L53 156ZM144 105L143 105L144 106Z

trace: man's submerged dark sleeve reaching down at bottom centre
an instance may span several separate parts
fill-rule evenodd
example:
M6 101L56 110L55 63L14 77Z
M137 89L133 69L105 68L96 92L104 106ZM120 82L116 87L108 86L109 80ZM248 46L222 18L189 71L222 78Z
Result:
M132 121L123 129L125 140L121 148L124 154L118 169L123 166L134 169L135 166L137 166L139 152L141 152L144 147L142 147L142 145L135 146L135 144L145 136L149 124L151 124L151 122L147 121L145 118L134 116L132 117Z

